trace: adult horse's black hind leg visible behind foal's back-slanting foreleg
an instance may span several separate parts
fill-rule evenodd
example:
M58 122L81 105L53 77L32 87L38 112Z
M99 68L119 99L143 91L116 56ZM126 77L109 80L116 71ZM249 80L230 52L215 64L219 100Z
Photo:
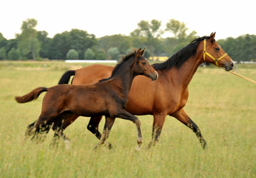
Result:
M101 133L100 131L98 130L98 127L99 127L99 123L102 119L102 115L99 115L99 116L93 116L90 118L90 121L87 125L87 129L92 132L99 140L101 138ZM112 145L108 142L108 140L106 140L104 142L104 144L109 148L109 149L112 149Z

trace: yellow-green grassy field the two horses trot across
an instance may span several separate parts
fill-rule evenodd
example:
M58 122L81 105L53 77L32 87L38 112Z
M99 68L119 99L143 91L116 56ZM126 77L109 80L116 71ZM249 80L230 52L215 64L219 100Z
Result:
M65 133L72 141L66 150L62 140L50 147L45 142L24 141L27 123L41 109L38 100L17 104L14 96L38 86L56 85L64 71L86 64L63 62L0 62L0 177L2 178L255 178L256 85L219 68L198 68L190 83L185 107L200 127L208 149L202 150L196 135L168 116L159 143L146 149L153 117L140 116L143 146L136 151L136 127L116 119L109 137L112 150L102 146L80 117ZM90 65L90 64L89 64ZM112 64L113 65L113 64ZM239 74L256 80L255 65L237 65ZM27 123L26 123L27 122ZM100 124L103 130L104 121Z

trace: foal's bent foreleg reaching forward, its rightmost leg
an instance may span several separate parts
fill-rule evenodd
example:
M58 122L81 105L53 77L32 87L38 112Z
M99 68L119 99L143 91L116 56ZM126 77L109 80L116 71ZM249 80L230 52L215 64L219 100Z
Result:
M142 144L142 134L141 134L141 130L140 130L140 120L138 119L138 117L136 117L135 115L132 115L131 113L128 113L126 110L121 110L121 109L118 110L116 117L130 120L133 123L135 123L136 128L137 128L137 133L138 133L137 149L139 150L140 146Z

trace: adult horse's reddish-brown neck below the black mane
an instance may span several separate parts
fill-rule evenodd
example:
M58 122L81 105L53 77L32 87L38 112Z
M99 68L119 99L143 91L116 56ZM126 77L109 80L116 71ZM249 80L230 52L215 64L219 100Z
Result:
M185 61L179 68L173 68L174 72L176 73L175 76L178 77L178 80L176 81L182 89L188 88L188 85L196 73L196 70L202 63L202 55L196 53L194 56Z

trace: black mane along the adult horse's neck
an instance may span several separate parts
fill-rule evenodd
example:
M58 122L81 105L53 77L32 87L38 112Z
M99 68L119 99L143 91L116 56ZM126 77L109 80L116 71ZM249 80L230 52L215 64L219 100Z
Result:
M204 39L209 39L210 36L196 37L184 48L180 49L178 52L174 53L167 61L163 63L153 64L155 70L165 70L171 67L179 68L185 61L196 54L196 49L200 41Z

